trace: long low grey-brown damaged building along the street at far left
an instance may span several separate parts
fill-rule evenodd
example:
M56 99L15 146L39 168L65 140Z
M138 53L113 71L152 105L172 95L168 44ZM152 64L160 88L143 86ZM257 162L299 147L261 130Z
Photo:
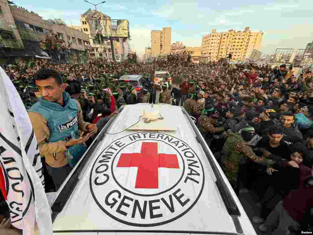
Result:
M89 37L80 30L69 28L62 20L44 20L38 14L0 0L0 63L12 63L23 58L50 58L50 48L43 42L46 35L58 34L64 40L55 56L64 61L83 63L87 60Z

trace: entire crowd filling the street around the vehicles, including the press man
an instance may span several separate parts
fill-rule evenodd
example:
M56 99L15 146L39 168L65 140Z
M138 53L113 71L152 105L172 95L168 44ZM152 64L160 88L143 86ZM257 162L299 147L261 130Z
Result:
M32 60L5 68L29 111L45 159L45 190L58 190L92 138L122 105L155 103L152 77L155 70L165 70L173 86L161 85L159 102L181 105L195 118L237 195L243 188L258 195L261 214L253 222L260 224L259 229L273 234L312 231L312 71L301 68L293 74L292 66L229 65L225 60L177 63L175 58L152 64L137 63L131 56L121 63ZM143 75L142 89L119 83L122 75ZM51 77L55 81L49 81ZM78 129L89 133L77 138L55 136L59 130L47 126L49 112L40 111L51 102L62 106L55 106L54 112L72 102L71 107L79 110ZM60 128L66 133L66 126Z

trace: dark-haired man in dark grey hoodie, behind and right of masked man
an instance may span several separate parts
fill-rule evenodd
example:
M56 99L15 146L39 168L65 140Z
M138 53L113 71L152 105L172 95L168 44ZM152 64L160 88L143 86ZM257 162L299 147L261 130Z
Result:
M298 130L298 125L295 123L295 117L292 112L283 112L279 122L284 129L284 141L291 144L302 143L303 135Z

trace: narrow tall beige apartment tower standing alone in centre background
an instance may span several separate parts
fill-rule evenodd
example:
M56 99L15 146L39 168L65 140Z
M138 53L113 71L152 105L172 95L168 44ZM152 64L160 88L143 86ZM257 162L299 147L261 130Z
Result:
M151 30L151 53L152 57L171 53L172 28Z

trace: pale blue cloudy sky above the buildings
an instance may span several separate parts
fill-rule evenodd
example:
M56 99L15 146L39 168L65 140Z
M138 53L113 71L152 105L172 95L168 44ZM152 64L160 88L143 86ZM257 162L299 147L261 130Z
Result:
M91 3L99 3L100 0ZM201 46L202 36L212 29L264 32L259 51L274 54L277 48L305 49L313 41L313 1L110 1L97 6L112 19L127 19L131 49L142 55L151 45L151 30L172 27L172 42ZM44 19L61 18L66 24L80 25L80 14L94 6L83 0L29 1L16 5L34 11Z

